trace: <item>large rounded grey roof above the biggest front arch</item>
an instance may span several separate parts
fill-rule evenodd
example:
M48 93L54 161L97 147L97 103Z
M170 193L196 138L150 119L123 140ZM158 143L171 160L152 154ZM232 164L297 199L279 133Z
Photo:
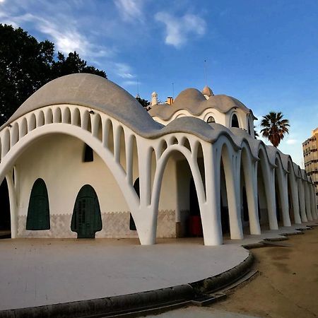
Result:
M136 128L158 129L160 126L124 88L106 78L88 73L62 76L45 84L23 102L6 124L40 107L59 104L100 110L135 131Z

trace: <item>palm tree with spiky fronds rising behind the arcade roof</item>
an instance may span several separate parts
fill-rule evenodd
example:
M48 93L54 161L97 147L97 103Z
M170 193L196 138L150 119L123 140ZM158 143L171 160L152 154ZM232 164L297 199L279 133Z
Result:
M274 147L278 147L285 134L289 134L288 119L283 119L282 112L269 112L261 120L261 136L269 139Z

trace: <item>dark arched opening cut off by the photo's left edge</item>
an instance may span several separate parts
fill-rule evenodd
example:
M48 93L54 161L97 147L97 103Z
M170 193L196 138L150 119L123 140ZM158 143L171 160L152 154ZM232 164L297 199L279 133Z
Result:
M0 202L0 237L11 237L10 200L6 178L4 178L0 186Z

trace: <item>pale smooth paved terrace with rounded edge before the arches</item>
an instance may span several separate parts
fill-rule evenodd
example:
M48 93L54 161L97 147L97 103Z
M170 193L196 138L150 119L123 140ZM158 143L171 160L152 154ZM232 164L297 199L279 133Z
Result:
M192 283L244 261L249 252L240 245L298 227L247 235L218 247L205 247L200 238L159 239L153 246L133 239L0 240L0 310Z

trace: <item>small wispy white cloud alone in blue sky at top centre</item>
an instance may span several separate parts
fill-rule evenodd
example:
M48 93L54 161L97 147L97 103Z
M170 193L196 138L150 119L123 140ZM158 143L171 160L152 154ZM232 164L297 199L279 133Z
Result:
M165 24L165 43L175 47L184 45L191 35L200 36L206 32L206 21L194 14L176 17L161 11L155 14L155 20Z

